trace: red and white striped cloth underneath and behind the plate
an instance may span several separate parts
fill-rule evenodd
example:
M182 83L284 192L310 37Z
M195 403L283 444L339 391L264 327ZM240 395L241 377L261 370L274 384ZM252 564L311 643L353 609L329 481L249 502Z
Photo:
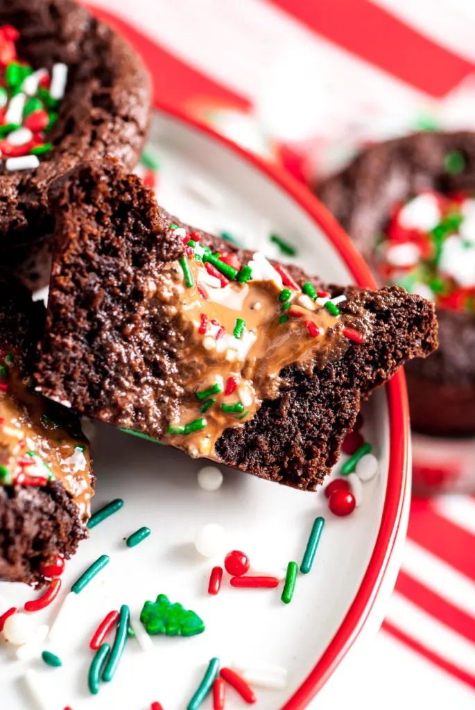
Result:
M94 0L160 46L155 94L304 177L361 141L475 128L473 0ZM133 41L133 31L129 34ZM142 40L144 58L157 50ZM414 500L376 644L322 708L475 707L475 500ZM358 701L356 701L358 699Z

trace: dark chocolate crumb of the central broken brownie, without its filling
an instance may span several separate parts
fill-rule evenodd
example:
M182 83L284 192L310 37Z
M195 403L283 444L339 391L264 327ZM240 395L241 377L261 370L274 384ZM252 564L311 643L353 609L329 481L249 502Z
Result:
M57 229L36 376L40 391L92 417L187 449L186 437L173 438L176 427L171 435L167 427L182 396L182 353L189 352L191 335L180 326L180 313L170 317L163 307L160 298L168 295L157 283L184 256L185 230L202 247L226 251L241 263L255 255L170 217L153 192L114 160L72 170L55 182L50 201ZM263 398L253 417L224 427L209 456L314 490L337 461L361 400L405 360L435 349L437 324L430 302L401 288L327 287L290 266L288 275L319 292L328 288L333 297L345 295L338 305L341 323L332 322L310 360L277 373L275 392ZM180 311L175 305L173 314ZM317 315L322 312L327 310ZM342 337L341 324L364 333L363 342ZM292 346L285 341L286 348ZM205 373L207 351L200 353L192 351L185 366Z

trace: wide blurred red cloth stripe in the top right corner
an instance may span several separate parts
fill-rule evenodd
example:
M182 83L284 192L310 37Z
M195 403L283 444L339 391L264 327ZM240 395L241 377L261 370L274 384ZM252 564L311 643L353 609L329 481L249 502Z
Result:
M432 96L444 96L474 70L471 62L368 0L271 1L318 34Z

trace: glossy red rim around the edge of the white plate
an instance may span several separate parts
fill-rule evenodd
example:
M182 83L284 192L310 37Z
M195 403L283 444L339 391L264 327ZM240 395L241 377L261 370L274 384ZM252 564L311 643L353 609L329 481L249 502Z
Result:
M153 60L153 50L156 48L153 40L121 18L103 9L96 7L91 9L94 15L114 26L131 45L140 51L152 78L154 74L158 74L158 64ZM221 143L228 151L237 155L245 163L253 165L263 175L266 175L269 180L285 190L324 231L324 234L342 257L356 283L360 286L375 288L376 283L368 266L366 266L364 259L354 248L349 236L346 235L326 207L312 195L310 190L307 190L304 185L297 182L292 175L237 146L229 141L228 138L213 131L207 124L194 119L175 105L168 104L162 97L155 96L153 105L155 109L158 109L163 114L167 114L195 131L204 133L217 143ZM368 567L356 592L354 601L351 603L337 633L335 633L327 649L300 688L294 692L281 710L302 710L315 697L324 683L327 682L327 679L343 660L366 623L376 601L383 577L388 569L388 563L398 536L405 495L408 489L410 429L408 395L405 388L403 370L398 371L388 382L386 393L388 396L390 425L388 485L381 525L376 537L373 554L368 562Z

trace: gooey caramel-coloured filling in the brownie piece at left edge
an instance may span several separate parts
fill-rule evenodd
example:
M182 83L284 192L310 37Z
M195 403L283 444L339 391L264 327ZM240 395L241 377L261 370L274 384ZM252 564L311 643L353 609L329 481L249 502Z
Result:
M15 361L7 356L0 377L0 483L40 486L57 479L86 523L93 495L89 446L48 417L46 400L28 390Z

